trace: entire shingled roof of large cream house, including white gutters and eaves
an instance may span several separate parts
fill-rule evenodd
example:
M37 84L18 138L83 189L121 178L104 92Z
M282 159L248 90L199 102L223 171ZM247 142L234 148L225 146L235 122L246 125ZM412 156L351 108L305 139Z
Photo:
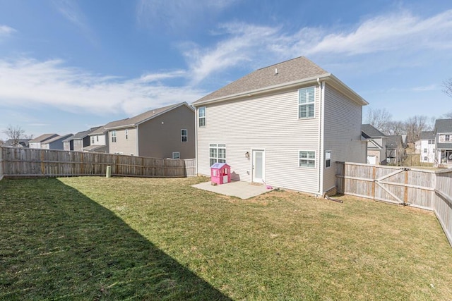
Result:
M201 105L237 97L254 96L254 94L284 89L291 85L315 83L318 79L329 81L331 85L338 87L355 102L362 105L368 104L333 74L326 72L304 56L255 70L243 78L239 78L239 80L235 80L229 85L198 99L193 104Z

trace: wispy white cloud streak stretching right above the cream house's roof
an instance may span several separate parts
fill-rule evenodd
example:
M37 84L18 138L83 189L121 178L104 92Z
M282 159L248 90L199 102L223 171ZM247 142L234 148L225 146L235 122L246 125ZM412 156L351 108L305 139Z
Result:
M337 63L345 56L368 54L385 61L383 55L391 53L401 58L385 61L385 68L393 68L422 63L417 59L426 58L417 52L424 49L445 51L448 56L452 52L452 10L429 18L397 11L363 20L346 30L337 28L303 27L285 32L284 27L227 23L212 32L222 38L213 47L187 42L182 49L195 83L240 64L252 69L297 56L321 57L323 61L332 57Z

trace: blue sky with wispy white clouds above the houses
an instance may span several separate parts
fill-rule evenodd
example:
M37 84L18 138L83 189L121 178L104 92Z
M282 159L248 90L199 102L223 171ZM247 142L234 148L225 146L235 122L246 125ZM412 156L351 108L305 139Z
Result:
M450 0L0 0L0 130L76 133L298 56L366 99L364 116L452 111Z

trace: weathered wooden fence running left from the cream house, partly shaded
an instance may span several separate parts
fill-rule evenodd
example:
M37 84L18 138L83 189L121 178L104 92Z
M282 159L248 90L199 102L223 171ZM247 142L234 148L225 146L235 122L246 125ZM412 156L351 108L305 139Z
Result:
M195 175L195 159L157 159L95 152L0 147L0 179L13 177L105 176L185 177Z

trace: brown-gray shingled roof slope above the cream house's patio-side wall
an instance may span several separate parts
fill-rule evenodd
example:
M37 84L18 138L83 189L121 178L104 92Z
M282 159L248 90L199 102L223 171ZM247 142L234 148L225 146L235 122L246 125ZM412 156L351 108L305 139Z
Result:
M276 73L276 71L278 73ZM248 75L245 75L243 78L235 80L229 85L198 99L194 104L210 99L218 99L234 94L261 90L265 87L283 85L288 82L295 82L305 78L316 78L319 77L319 75L328 74L329 73L326 72L326 70L323 70L312 61L309 61L309 59L300 56L297 59L283 61L272 66L255 70Z

